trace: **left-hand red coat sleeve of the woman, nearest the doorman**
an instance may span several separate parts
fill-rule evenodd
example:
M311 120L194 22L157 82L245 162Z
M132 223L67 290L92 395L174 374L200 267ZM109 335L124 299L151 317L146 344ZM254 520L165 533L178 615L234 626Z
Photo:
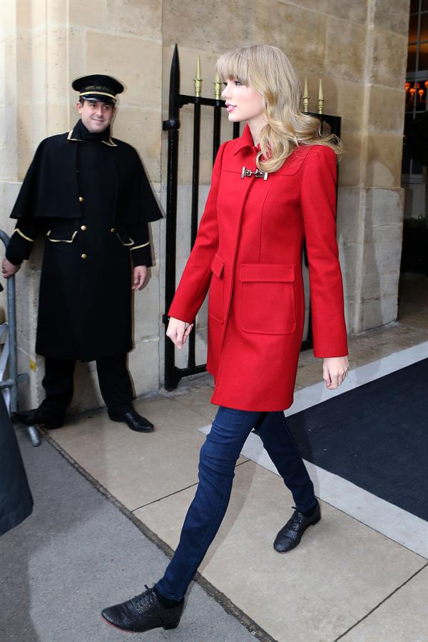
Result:
M178 284L168 316L191 323L203 304L211 280L211 264L218 248L217 195L223 152L227 143L218 150L211 176L211 187L203 212L195 245L183 276Z

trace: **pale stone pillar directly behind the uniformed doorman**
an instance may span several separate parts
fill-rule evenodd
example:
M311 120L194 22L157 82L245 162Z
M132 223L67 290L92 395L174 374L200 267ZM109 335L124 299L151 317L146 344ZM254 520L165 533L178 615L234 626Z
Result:
M161 181L161 3L158 0L8 0L1 3L1 52L7 75L1 77L0 226L9 220L21 181L37 144L68 131L77 120L76 76L99 72L126 85L113 135L135 146L159 193ZM156 265L144 291L135 296L135 344L129 365L136 394L159 385L158 254L160 224L151 226ZM40 243L41 245L41 243ZM41 248L16 276L19 371L22 406L43 398L43 359L34 353ZM4 300L4 298L3 298ZM114 337L112 337L114 340ZM71 411L103 405L94 363L78 364Z

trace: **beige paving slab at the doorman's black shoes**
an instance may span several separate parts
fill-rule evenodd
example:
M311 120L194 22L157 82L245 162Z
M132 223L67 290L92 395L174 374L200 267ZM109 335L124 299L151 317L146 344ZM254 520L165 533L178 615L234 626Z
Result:
M176 398L160 396L135 405L155 424L153 433L113 423L106 411L71 417L49 433L131 511L198 483L199 451L205 441L198 428L207 423L205 415Z

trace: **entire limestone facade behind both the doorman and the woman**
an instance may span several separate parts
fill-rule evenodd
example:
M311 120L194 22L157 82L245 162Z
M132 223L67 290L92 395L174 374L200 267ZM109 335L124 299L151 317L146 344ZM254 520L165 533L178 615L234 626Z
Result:
M212 96L215 60L228 49L267 43L307 75L311 108L322 79L325 112L342 116L338 239L349 331L394 321L397 314L403 197L400 187L409 0L5 0L0 34L0 229L13 230L11 206L41 139L71 129L71 81L91 72L126 84L114 135L140 152L164 200L168 81L178 44L181 91L193 94L200 55L203 95ZM178 274L188 255L191 111L182 110ZM211 168L210 113L203 112L200 209ZM223 139L231 136L227 121ZM163 379L165 221L151 226L156 264L135 297L136 393ZM43 359L34 353L41 246L16 277L19 367L30 374L23 405L42 398ZM1 296L1 295L0 295ZM5 298L0 305L5 306ZM204 358L205 314L198 319ZM183 360L184 356L180 355ZM78 364L72 411L102 405L94 364Z

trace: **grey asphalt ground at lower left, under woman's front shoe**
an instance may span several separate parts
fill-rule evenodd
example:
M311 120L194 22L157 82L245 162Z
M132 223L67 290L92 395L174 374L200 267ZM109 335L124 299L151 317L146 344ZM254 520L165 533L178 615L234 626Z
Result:
M101 609L143 590L168 558L49 443L19 431L34 513L0 538L1 642L128 642ZM151 578L151 579L150 579ZM148 642L249 642L255 636L194 584L180 626Z

